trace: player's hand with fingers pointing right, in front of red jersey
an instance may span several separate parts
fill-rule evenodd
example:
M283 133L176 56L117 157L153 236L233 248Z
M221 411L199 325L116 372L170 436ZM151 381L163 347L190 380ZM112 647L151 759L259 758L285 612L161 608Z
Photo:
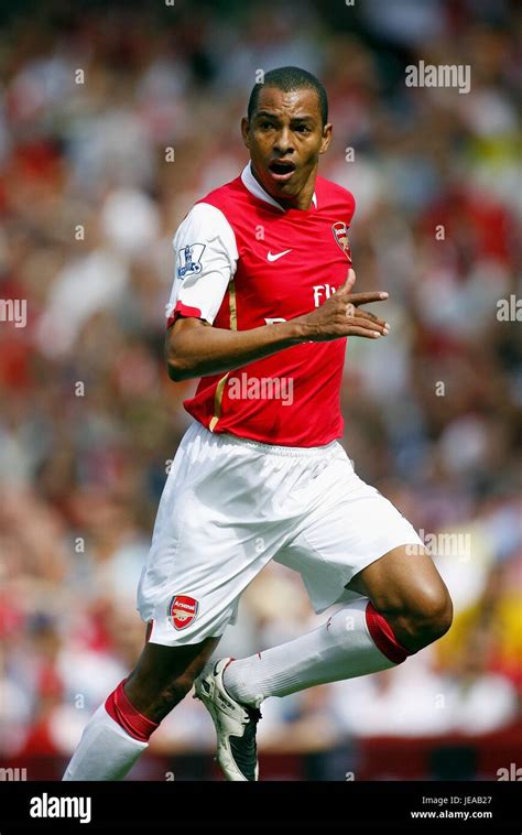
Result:
M352 293L356 273L350 268L345 283L320 307L302 317L307 338L314 343L326 343L342 336L363 336L378 339L388 336L390 325L373 313L360 311L359 305L383 302L388 293Z

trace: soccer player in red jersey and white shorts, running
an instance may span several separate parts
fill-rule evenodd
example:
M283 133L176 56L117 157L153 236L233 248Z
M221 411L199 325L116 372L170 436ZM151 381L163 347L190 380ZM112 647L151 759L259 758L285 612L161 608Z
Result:
M140 579L145 646L65 780L123 778L193 684L226 778L257 780L264 698L392 668L450 625L417 533L337 440L346 338L385 338L361 305L388 294L352 292L354 197L317 174L331 139L324 87L296 67L267 73L241 130L250 162L174 239L166 362L173 380L202 379ZM340 608L289 643L210 662L270 560L301 573L317 612Z

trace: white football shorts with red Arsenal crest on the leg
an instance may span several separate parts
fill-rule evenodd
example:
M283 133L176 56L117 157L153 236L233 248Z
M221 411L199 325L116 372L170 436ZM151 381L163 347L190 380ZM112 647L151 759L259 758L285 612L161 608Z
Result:
M195 421L173 460L138 588L149 640L198 643L236 622L270 560L300 572L316 612L360 597L345 586L399 545L423 543L354 471L342 446L270 446Z

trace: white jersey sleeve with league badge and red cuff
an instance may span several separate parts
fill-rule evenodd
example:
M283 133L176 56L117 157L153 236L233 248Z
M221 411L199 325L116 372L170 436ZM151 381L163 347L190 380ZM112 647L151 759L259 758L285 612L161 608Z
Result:
M167 325L177 314L211 325L237 268L232 227L220 209L197 203L177 229L173 246L176 267L166 307Z

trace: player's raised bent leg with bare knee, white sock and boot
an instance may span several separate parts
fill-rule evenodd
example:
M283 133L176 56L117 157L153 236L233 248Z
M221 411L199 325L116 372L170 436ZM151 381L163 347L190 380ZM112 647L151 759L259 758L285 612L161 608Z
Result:
M218 759L228 779L257 779L257 761L255 777L246 778L238 769L240 760L257 760L255 728L251 722L246 725L251 733L240 740L232 738L233 757L227 741L227 708L219 700L228 695L235 709L241 705L255 709L269 696L385 670L449 629L448 590L428 552L413 546L413 553L405 545L395 547L359 572L347 587L369 599L348 604L318 629L247 659L222 659L203 672L196 693L202 695L203 686L213 688L204 701L218 730ZM227 756L219 757L220 746Z

